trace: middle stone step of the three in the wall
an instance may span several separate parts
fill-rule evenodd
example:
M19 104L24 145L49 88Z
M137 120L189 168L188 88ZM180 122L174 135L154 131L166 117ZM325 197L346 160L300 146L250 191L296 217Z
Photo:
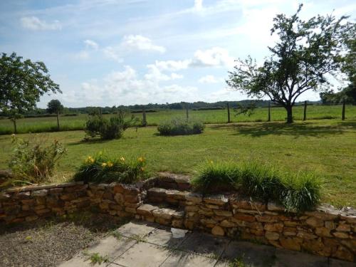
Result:
M152 187L147 190L147 199L151 202L167 202L174 206L184 206L186 196L189 194L189 191L179 191L175 189Z

